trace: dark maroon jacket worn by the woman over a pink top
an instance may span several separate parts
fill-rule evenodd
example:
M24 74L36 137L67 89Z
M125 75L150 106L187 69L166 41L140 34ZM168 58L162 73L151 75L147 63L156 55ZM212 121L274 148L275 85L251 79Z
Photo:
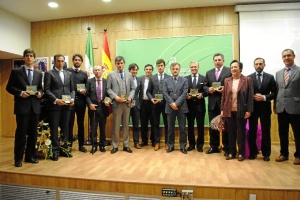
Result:
M222 93L221 111L224 117L231 117L231 97L233 78L224 81ZM237 89L237 117L243 118L246 112L253 112L253 82L250 77L241 75Z

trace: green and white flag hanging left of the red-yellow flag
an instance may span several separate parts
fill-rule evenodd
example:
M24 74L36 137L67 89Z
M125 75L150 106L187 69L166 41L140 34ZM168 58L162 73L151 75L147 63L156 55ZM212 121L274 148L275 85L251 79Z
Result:
M92 43L92 36L91 36L91 28L88 27L88 38L85 47L85 70L88 74L93 74L93 67L94 67L94 53L93 53L93 43Z

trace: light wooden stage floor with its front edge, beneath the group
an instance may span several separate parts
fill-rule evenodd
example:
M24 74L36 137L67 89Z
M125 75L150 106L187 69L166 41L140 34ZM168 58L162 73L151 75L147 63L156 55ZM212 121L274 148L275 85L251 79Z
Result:
M13 143L13 138L0 138L0 183L154 196L161 195L161 188L193 189L194 198L210 199L239 199L250 193L263 199L300 199L300 166L293 164L292 143L290 160L277 163L279 145L272 145L270 162L264 162L261 154L239 162L225 160L223 153L194 150L184 155L178 146L166 153L163 145L158 151L151 145L132 147L132 154L122 151L122 146L111 154L109 146L107 152L92 155L91 146L86 146L88 153L81 153L75 142L73 158L23 162L21 168L14 167Z

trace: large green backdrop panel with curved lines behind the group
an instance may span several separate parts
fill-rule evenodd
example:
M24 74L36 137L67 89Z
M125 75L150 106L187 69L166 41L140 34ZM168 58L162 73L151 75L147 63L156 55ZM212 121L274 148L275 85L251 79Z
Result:
M206 35L169 38L148 38L133 40L118 40L117 55L124 56L126 67L130 63L139 66L138 76L144 75L144 66L152 64L153 74L157 73L155 62L162 58L166 61L165 72L170 73L169 65L172 62L181 64L180 75L190 74L189 63L198 61L199 73L205 76L206 71L214 68L213 55L222 53L225 57L225 65L228 66L233 59L233 35ZM161 124L162 120L161 120ZM205 125L208 125L206 112Z

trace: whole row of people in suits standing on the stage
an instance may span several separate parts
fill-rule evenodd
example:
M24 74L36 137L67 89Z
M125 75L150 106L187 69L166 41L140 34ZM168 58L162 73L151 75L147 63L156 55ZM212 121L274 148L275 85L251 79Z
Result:
M209 121L221 116L225 119L227 129L220 132L209 129L210 148L206 154L224 151L226 160L237 157L244 160L246 122L249 121L249 159L258 154L256 132L258 119L262 127L261 151L264 161L270 161L271 154L271 100L274 100L274 112L278 114L280 156L277 162L289 159L289 124L291 124L296 152L295 165L300 164L300 69L295 65L295 53L292 49L282 52L285 67L274 76L264 72L266 66L263 58L254 60L255 72L249 76L242 74L243 64L237 60L224 66L224 55L213 55L215 67L203 76L199 73L199 63L190 62L191 74L180 76L181 65L170 64L170 72L165 73L165 61L156 61L157 74L152 75L154 67L147 64L145 75L137 77L139 67L132 63L128 71L124 69L125 59L115 58L116 70L102 77L101 66L94 66L93 78L80 69L83 58L75 54L73 67L64 69L65 58L61 54L54 56L54 68L45 72L44 86L42 73L33 69L35 52L26 49L23 53L25 65L13 69L7 84L7 91L14 95L14 113L17 129L15 133L15 166L21 167L23 154L25 162L38 163L35 156L37 124L41 113L40 99L45 96L49 103L49 119L52 151L51 159L58 160L60 137L73 141L75 114L78 125L78 150L86 153L84 147L84 116L88 107L91 153L105 152L106 120L110 109L113 113L111 154L118 152L120 142L120 125L122 125L123 151L132 153L129 145L129 121L132 118L133 146L141 149L151 141L154 151L161 147L160 117L163 118L165 133L165 150L174 151L175 121L179 125L179 146L183 154L197 149L203 152L204 118L206 113L205 98L208 97ZM34 86L35 93L28 93L28 87ZM299 87L298 87L299 86ZM186 133L186 120L188 132ZM197 139L194 132L196 120ZM150 124L151 134L148 134ZM140 127L139 127L140 125ZM100 128L98 141L97 130ZM141 143L140 143L141 136ZM150 136L150 138L149 138ZM150 140L149 140L150 139ZM188 143L188 147L187 147ZM237 144L237 145L236 145ZM26 149L25 149L26 147Z

